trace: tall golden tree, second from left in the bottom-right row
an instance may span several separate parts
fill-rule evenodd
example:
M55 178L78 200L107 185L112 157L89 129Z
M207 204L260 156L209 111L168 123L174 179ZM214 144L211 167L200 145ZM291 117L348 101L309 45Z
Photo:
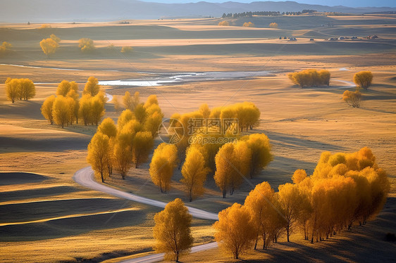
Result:
M264 181L257 184L245 199L245 207L252 215L252 228L256 238L254 250L256 250L259 238L263 240L263 249L266 249L272 241L273 222L271 219L274 217L269 215L277 212L273 207L273 193L273 188Z

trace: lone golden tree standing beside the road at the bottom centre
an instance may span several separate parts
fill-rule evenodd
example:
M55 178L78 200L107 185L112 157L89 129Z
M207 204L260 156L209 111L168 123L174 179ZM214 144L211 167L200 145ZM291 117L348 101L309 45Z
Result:
M169 202L165 209L154 216L154 249L165 253L166 259L179 261L180 255L190 253L192 216L180 198Z

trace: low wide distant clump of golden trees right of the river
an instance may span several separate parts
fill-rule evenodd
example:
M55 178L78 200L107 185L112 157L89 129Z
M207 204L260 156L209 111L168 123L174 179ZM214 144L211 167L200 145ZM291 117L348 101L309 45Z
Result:
M287 77L302 88L304 86L328 86L330 84L330 72L328 70L302 70L289 73Z

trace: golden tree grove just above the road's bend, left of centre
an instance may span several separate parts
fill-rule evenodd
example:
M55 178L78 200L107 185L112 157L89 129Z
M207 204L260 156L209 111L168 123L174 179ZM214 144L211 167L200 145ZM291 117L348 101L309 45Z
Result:
M140 103L138 93L135 97L134 110L123 110L117 125L106 118L88 145L87 161L102 182L111 176L113 168L125 179L132 164L137 168L147 162L154 146L158 127L154 130L151 121L154 115L162 120L161 108L155 95L150 95L146 103Z

